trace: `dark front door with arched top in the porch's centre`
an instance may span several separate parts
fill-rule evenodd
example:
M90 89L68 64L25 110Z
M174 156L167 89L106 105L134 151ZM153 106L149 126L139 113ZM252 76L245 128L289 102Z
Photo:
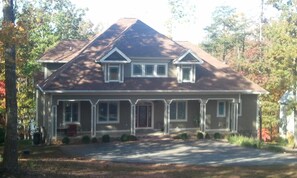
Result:
M152 128L152 104L139 103L136 106L136 128Z

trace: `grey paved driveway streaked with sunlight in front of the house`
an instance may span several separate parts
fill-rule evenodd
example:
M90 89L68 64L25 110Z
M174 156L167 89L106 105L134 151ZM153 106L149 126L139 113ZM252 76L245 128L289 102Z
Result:
M273 153L229 143L201 141L136 141L62 146L65 154L96 160L189 165L297 165L297 154Z

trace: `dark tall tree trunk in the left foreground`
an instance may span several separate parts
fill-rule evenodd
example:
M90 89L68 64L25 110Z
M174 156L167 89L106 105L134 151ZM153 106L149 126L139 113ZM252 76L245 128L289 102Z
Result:
M15 15L13 0L3 2L3 29L6 25L14 24ZM10 30L11 31L11 30ZM12 39L13 34L7 36ZM17 100L16 100L16 51L13 40L4 42L5 60L5 90L6 90L6 134L3 154L3 167L7 172L15 173L18 170L17 150Z

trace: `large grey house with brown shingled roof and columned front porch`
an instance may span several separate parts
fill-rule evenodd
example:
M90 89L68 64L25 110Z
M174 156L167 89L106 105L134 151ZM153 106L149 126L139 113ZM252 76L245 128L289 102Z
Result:
M124 18L92 40L61 41L40 59L37 120L77 134L201 130L257 134L267 93L198 46ZM75 130L75 129L74 129Z

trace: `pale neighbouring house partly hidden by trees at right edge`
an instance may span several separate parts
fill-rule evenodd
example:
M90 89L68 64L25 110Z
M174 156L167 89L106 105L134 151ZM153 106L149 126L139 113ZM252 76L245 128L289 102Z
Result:
M290 108L290 102L294 101L294 92L286 91L278 101L280 106L279 112L279 134L281 137L287 138L288 134L296 135L294 119L294 111Z

